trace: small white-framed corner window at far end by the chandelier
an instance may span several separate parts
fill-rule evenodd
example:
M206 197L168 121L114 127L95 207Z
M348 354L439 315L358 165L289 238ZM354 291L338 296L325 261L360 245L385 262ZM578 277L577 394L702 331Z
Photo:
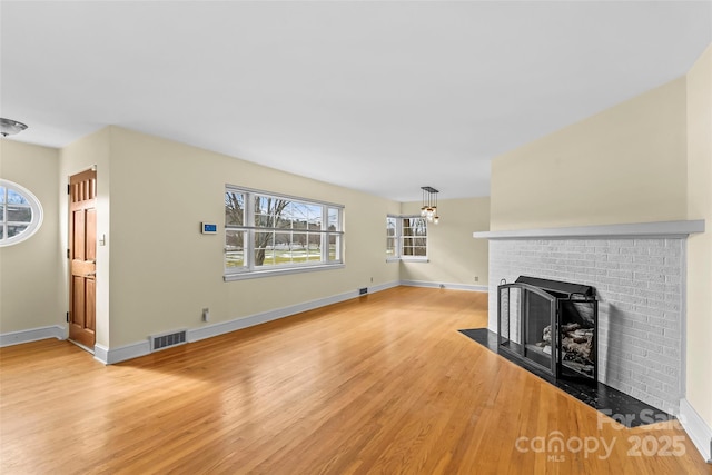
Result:
M387 216L386 259L427 260L427 219L421 216Z

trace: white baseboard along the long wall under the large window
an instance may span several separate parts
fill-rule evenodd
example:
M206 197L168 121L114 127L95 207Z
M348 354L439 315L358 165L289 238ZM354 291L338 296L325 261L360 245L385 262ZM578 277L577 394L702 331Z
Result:
M398 283L382 284L373 287L367 287L368 293L376 293L385 290L387 288L397 287ZM188 343L199 342L201 339L211 338L214 336L224 335L226 333L236 331L243 328L251 327L267 321L276 320L291 315L300 314L303 311L313 310L315 308L325 307L332 304L338 304L339 301L349 300L359 296L358 290L348 291L332 297L320 298L318 300L306 301L304 304L293 305L290 307L278 308L275 310L264 311L261 314L250 315L247 317L236 318L234 320L220 321L214 325L206 325L200 328L191 328L187 330L186 337ZM115 363L125 362L127 359L138 358L139 356L146 356L151 353L150 343L138 342L131 345L121 346L118 348L107 348L101 345L95 345L95 359L103 363L105 365L111 365Z

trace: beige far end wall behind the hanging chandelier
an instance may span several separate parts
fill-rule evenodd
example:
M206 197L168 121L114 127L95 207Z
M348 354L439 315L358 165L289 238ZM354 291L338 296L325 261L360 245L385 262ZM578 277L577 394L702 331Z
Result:
M400 278L446 287L486 286L487 241L473 239L472 234L490 229L490 198L441 199L437 209L441 221L428 227L428 261L400 263ZM403 215L418 215L421 202L405 202L400 210Z

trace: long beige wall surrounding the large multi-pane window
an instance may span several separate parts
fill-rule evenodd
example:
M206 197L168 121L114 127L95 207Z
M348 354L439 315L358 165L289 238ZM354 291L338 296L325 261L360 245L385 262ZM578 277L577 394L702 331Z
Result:
M110 347L398 280L385 263L385 216L399 204L195 147L111 127ZM101 168L99 168L101 174ZM225 184L345 206L346 267L222 281ZM373 284L370 278L373 277ZM98 280L101 275L98 275Z

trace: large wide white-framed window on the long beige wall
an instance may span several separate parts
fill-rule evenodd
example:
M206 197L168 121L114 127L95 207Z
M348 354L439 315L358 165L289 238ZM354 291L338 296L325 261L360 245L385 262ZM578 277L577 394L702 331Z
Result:
M344 207L225 188L225 279L343 265Z

